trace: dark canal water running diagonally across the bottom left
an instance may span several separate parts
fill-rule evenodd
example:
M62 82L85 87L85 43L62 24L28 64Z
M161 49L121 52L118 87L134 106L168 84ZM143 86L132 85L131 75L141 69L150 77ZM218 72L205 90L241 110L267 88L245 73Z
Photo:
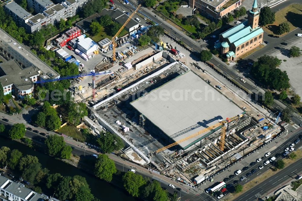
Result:
M30 149L27 146L15 142L0 136L0 147L7 146L11 150L18 149L22 152L23 156L25 155L33 155L39 158L39 162L42 164L42 167L46 167L49 169L49 173L60 173L63 176L74 176L80 175L85 177L89 187L91 188L91 193L101 199L101 201L106 200L127 200L127 201L137 201L137 199L131 197L125 190L115 187L111 183L105 182L103 180L99 180L98 178L87 174L79 170L78 168L66 164L63 161L56 160L46 154L40 153L38 151L34 151L34 149Z

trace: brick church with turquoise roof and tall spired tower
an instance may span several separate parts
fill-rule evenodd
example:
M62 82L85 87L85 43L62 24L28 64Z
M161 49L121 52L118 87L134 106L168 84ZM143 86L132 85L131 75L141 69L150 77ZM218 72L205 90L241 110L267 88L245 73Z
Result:
M257 0L248 11L248 20L238 24L219 35L219 42L214 45L220 55L228 61L235 61L239 56L258 47L263 41L263 30L259 27Z

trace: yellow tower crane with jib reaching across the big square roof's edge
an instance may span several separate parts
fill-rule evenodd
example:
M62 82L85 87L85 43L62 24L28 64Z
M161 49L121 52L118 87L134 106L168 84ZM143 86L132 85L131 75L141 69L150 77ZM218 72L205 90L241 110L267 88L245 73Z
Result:
M236 119L238 119L238 118L240 118L240 117L242 117L242 114L239 114L239 115L237 115L237 116L233 116L233 117L231 117L231 118L227 118L226 120L223 120L223 121L221 121L221 122L219 122L219 123L214 124L213 126L209 126L209 127L205 128L205 129L202 129L202 130L200 130L200 131L198 131L198 132L192 134L191 136L185 137L185 138L180 139L180 140L178 140L178 141L176 141L176 142L174 142L174 143L172 143L172 144L170 144L170 145L167 145L167 146L165 146L165 147L162 147L162 148L156 150L155 153L157 154L158 152L164 151L164 150L166 150L167 148L173 147L173 146L175 146L175 145L177 145L177 144L179 144L179 143L181 143L181 142L184 142L184 141L186 141L186 140L188 140L188 139L194 138L194 137L200 135L201 133L204 133L204 132L206 132L206 131L208 131L208 130L212 130L212 129L214 129L214 128L217 128L218 126L222 126L222 128L221 128L221 136L220 136L220 146L219 146L219 148L223 151L223 149L224 149L224 139L225 139L225 134L226 134L226 125L227 125L227 123L230 123L231 121L236 120Z

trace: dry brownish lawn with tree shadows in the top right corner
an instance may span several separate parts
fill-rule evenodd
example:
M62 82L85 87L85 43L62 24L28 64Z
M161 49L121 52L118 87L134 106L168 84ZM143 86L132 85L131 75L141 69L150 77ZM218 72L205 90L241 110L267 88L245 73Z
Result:
M290 32L297 27L302 26L302 5L301 4L291 4L282 10L276 12L275 22L273 24L268 24L262 27L268 34L277 35L279 30L279 24L287 22L290 27ZM270 28L268 26L271 26ZM287 34L287 33L285 33ZM281 36L285 35L282 34Z

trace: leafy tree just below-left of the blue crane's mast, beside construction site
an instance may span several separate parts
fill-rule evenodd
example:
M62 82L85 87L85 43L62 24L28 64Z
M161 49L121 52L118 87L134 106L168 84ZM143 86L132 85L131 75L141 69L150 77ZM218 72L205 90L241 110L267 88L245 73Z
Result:
M88 115L86 104L83 102L74 103L72 102L68 108L68 120L74 125L80 123L80 119Z

